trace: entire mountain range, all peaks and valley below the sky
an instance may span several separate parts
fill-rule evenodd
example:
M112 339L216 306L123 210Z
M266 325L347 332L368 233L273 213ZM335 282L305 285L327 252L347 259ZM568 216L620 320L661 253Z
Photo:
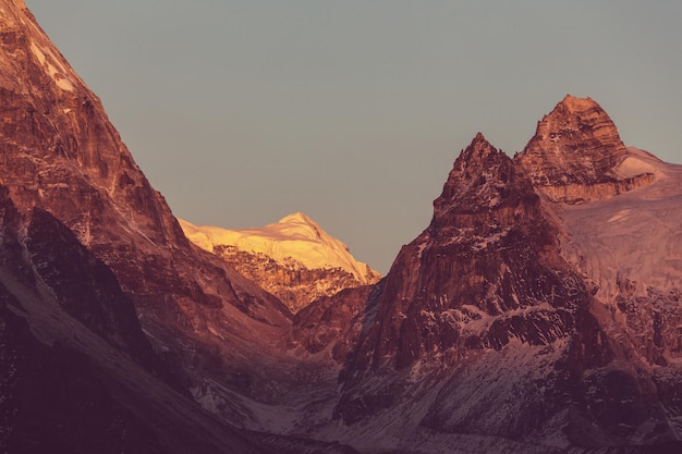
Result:
M682 450L682 165L593 99L477 134L380 279L176 220L22 0L0 48L4 452Z

